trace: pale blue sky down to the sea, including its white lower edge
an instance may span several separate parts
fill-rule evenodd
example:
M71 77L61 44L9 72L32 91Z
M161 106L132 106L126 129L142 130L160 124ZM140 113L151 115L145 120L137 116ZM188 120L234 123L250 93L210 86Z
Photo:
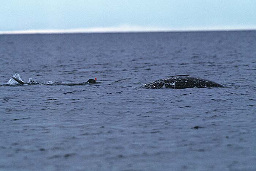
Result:
M256 0L0 0L0 31L256 29Z

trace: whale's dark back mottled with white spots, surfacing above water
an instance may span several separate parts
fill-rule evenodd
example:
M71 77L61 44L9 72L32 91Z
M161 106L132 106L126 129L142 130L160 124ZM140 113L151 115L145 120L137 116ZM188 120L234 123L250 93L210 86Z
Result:
M207 79L191 77L189 75L175 75L143 84L149 89L185 89L185 88L211 88L224 87L223 85Z

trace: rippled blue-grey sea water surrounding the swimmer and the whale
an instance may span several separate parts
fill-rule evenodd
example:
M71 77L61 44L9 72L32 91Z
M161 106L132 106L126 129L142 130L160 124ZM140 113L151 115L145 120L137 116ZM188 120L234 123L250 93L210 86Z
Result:
M256 31L0 35L0 170L255 171Z

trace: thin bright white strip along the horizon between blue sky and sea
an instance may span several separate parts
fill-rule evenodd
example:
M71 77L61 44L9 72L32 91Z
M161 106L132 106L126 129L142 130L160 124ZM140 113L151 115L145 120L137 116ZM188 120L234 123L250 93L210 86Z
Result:
M75 34L75 33L129 33L129 32L206 32L206 31L254 31L256 27L208 27L208 28L185 28L172 29L160 27L141 27L141 26L118 26L118 27L93 27L75 29L34 29L34 30L15 30L0 31L0 35L8 34Z

